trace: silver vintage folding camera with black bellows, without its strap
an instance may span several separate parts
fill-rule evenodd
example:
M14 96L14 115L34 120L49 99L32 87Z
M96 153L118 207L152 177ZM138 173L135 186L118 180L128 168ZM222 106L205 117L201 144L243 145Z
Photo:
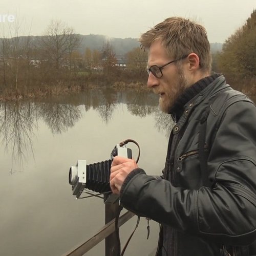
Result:
M69 184L72 185L72 194L79 198L85 188L98 193L111 193L110 168L115 156L132 158L132 150L126 148L125 145L117 144L112 150L109 160L89 165L87 160L78 160L76 166L71 166Z

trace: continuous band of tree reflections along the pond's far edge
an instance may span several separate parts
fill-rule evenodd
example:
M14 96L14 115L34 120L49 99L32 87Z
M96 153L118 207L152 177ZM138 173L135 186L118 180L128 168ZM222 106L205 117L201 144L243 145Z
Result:
M256 100L255 97L251 97ZM108 124L113 112L124 106L132 115L141 118L153 115L159 132L169 136L174 125L170 115L158 108L156 95L145 91L90 90L79 95L48 99L48 102L6 102L0 103L1 144L6 151L12 151L15 161L23 162L27 154L33 154L31 137L37 130L39 119L44 120L52 134L67 132L82 117L82 112L96 110L103 123Z

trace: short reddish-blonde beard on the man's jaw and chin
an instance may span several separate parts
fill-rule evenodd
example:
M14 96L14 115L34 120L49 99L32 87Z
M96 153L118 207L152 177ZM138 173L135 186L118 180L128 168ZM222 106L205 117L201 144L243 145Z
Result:
M182 93L188 87L188 83L189 83L187 78L185 77L185 74L181 65L177 65L177 72L178 72L178 80L176 83L176 87L172 88L172 91L169 91L168 93L166 93L166 96L169 99L168 102L160 102L161 99L159 99L160 110L167 114L170 114L172 112L172 108L176 100L180 95L182 95Z

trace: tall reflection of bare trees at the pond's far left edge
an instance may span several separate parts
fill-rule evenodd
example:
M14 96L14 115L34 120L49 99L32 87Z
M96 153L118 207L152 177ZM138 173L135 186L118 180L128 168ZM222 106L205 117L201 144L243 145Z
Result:
M12 147L14 160L23 162L28 152L33 154L31 136L37 125L37 109L34 103L14 101L0 104L1 144L8 151Z

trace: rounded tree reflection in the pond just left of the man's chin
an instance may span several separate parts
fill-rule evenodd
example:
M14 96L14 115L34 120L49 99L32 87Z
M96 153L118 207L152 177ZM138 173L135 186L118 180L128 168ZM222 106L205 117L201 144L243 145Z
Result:
M136 91L131 103L127 103L127 110L133 115L145 117L156 111L156 100L146 91Z

